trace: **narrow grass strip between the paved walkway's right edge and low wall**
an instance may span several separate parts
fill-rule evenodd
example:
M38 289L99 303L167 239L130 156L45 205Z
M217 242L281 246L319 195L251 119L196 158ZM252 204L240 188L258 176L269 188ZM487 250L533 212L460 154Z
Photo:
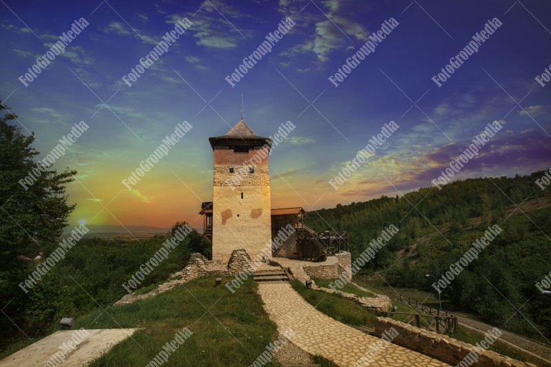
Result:
M298 280L293 280L291 285L306 302L343 324L371 327L375 325L375 315L352 300L337 294L309 290Z

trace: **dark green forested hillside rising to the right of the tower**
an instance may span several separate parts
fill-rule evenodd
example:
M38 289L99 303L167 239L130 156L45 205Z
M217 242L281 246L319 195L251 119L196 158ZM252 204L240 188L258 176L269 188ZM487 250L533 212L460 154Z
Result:
M498 224L503 231L442 291L442 300L497 326L543 339L541 331L550 339L551 295L535 286L551 270L551 190L535 183L544 174L469 179L337 205L306 214L305 222L319 231L348 231L353 259L395 224L399 233L362 271L376 272L392 286L431 292L434 280L424 275L441 277ZM521 313L514 315L514 307Z

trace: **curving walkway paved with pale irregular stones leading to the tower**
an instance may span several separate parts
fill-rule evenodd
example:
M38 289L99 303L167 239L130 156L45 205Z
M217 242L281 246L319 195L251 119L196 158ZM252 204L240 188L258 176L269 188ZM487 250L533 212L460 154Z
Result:
M295 292L291 284L258 284L258 292L280 333L291 329L295 333L291 342L308 353L331 359L339 366L449 366L395 344L386 344L382 350L376 348L374 343L381 339L341 324L316 310ZM376 355L372 363L368 363L366 358L370 353Z

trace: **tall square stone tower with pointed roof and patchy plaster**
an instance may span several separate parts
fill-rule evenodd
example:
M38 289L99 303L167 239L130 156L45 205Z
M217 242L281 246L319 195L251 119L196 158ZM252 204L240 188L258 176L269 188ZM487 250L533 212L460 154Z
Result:
M245 249L253 258L271 254L271 139L240 120L224 136L209 138L214 150L212 254L227 263L231 251Z

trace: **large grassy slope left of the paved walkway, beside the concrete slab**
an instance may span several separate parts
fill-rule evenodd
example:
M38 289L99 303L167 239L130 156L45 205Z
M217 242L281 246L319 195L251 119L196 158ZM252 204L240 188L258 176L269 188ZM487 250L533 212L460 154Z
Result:
M228 280L222 277L222 284ZM278 334L255 290L247 280L232 295L214 287L214 277L201 277L146 300L83 315L74 327L143 328L91 366L145 366L186 327L193 334L163 366L248 366Z

